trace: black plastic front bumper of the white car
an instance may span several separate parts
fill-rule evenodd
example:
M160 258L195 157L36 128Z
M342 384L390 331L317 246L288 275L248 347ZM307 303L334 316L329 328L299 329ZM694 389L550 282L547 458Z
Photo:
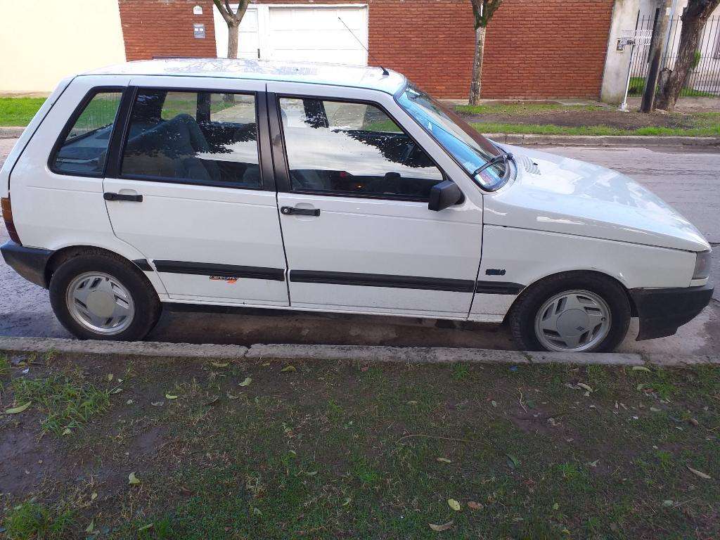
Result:
M711 284L672 289L630 289L640 319L636 341L672 336L705 309L713 297Z

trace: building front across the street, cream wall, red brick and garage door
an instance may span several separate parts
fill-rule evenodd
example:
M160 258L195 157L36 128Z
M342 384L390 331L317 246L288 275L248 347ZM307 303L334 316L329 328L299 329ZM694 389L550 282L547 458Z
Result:
M482 96L598 98L616 1L505 0L487 29ZM0 66L0 92L48 91L70 73L124 60L227 55L228 30L212 0L19 4L0 0L7 20L21 22L0 36L0 52L13 58ZM40 14L52 17L42 32L34 26ZM253 1L238 54L380 64L438 97L467 99L472 7L469 0Z

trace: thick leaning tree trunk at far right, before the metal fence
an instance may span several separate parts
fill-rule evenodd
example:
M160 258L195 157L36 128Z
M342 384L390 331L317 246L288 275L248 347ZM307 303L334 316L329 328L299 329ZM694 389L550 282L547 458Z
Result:
M656 107L672 111L675 109L675 102L678 101L680 91L688 80L690 70L696 62L696 51L698 41L703 32L705 22L714 9L720 5L720 0L690 0L688 7L680 20L683 27L680 30L680 45L678 46L678 58L675 60L675 68L667 78L662 93L657 99Z

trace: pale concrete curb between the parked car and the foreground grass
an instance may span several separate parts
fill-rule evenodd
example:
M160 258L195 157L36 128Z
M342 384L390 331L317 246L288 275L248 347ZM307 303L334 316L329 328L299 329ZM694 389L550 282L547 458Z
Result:
M677 356L632 353L542 353L494 351L482 348L382 347L356 345L194 345L153 341L77 341L59 338L0 337L0 351L6 353L60 353L91 356L147 356L186 359L242 359L278 361L359 361L397 364L598 364L606 366L688 366L720 364L717 356Z

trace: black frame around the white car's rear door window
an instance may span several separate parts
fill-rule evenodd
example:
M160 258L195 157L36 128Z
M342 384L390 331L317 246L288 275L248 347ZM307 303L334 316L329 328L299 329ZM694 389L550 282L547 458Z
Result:
M195 88L190 86L132 86L132 89L134 89L134 92L132 94L132 99L130 99L130 102L128 104L127 112L125 114L125 125L122 129L122 139L120 140L120 143L117 145L117 163L116 167L114 169L114 176L112 178L120 179L120 180L145 180L145 181L155 181L155 182L163 182L165 184L183 184L183 185L193 185L193 186L210 186L210 187L222 187L222 188L228 188L228 189L251 189L253 191L268 191L268 192L275 192L275 186L272 176L267 176L264 174L266 171L263 167L263 135L261 135L261 121L263 120L262 114L261 114L261 108L263 108L263 113L266 114L266 111L264 110L264 107L262 107L261 101L264 99L264 91L261 90L238 90L238 89L221 89L221 88ZM207 94L240 94L243 96L253 96L255 99L255 125L256 125L256 146L257 146L257 155L258 155L258 168L260 171L260 186L258 187L248 187L248 186L230 186L228 184L225 184L223 182L217 182L217 181L207 181L207 180L199 180L199 179L177 179L172 176L152 176L152 175L143 175L143 174L122 174L122 161L125 157L125 147L127 146L127 140L128 135L130 134L130 125L132 123L132 107L135 105L135 101L137 99L138 93L143 90L156 90L156 91L166 91L166 92L184 92L184 93L194 93L199 94L200 92L205 92ZM265 134L266 135L266 134ZM267 150L264 152L267 154ZM269 156L265 156L265 159L268 159Z

